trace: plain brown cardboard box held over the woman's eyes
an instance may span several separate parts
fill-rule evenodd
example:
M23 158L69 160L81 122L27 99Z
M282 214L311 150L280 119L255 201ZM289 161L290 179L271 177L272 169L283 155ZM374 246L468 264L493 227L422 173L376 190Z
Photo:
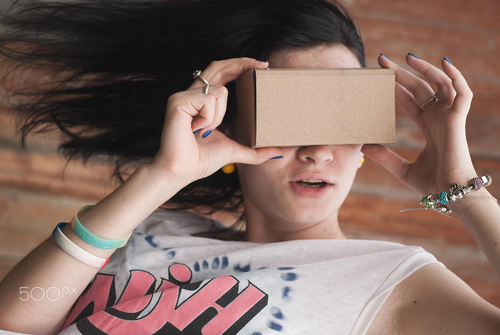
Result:
M251 148L394 143L393 70L250 70L236 96L235 140Z

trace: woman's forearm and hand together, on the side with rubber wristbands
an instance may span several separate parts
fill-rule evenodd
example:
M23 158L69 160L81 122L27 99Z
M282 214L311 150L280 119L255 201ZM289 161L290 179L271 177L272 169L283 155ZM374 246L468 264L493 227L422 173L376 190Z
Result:
M209 94L202 93L204 85L196 80L188 90L171 96L158 153L150 163L139 166L111 194L79 215L85 228L101 238L123 238L193 180L208 176L227 163L259 164L280 155L279 148L252 150L215 129L225 113L227 90L224 84L244 71L265 67L267 63L248 58L213 62L203 71L203 77L213 84ZM208 130L212 130L210 136L202 138ZM86 243L70 225L63 228L63 233L80 248L98 257L107 258L114 251ZM1 328L22 333L58 332L77 295L56 301L21 301L19 285L81 289L97 271L70 256L49 237L1 280L0 305L9 306L0 308ZM29 318L19 319L19 315L27 314Z

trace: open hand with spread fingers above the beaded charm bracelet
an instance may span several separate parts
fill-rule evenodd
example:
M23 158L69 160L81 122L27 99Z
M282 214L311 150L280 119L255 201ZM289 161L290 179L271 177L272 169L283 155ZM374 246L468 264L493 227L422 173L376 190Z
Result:
M409 54L406 63L437 86L437 101L422 107L434 96L429 84L383 56L378 57L382 68L394 70L396 101L422 132L425 147L414 162L379 144L365 144L361 151L421 194L447 191L454 183L468 185L476 177L465 139L465 118L472 92L446 59L441 61L444 72Z

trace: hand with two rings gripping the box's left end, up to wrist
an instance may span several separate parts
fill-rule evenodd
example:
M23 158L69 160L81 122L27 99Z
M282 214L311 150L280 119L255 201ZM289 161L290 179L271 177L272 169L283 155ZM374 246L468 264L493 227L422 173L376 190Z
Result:
M245 71L265 68L267 62L251 58L210 63L202 72L210 84L208 94L203 94L204 83L196 79L186 91L175 93L168 99L160 149L149 165L155 171L190 183L209 176L228 163L260 164L281 155L280 148L250 149L215 129L226 110L227 89L224 85Z

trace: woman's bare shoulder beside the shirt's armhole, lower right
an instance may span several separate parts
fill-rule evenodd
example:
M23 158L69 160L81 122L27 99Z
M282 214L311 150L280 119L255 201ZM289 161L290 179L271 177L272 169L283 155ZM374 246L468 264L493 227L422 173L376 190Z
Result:
M500 309L437 263L394 287L366 335L500 334Z

